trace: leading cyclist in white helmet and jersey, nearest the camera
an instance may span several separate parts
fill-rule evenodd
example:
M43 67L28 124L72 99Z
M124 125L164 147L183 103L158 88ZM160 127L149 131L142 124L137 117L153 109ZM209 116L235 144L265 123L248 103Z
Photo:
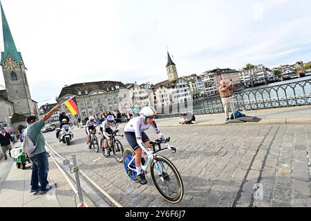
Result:
M149 137L146 133L144 133L144 131L148 130L149 127L152 126L159 139L165 140L164 135L162 135L160 129L154 121L155 115L156 110L153 107L145 106L140 111L140 116L132 118L124 128L124 136L135 151L135 166L140 184L147 184L146 177L141 171L142 151L144 152L143 154L147 153L151 160L153 157Z

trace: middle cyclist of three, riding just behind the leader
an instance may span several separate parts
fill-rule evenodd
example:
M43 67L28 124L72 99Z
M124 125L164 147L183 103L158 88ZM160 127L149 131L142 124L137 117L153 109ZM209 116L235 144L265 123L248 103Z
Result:
M108 148L108 142L110 140L111 134L113 133L113 130L111 129L111 126L115 127L115 131L119 132L119 128L117 127L117 124L115 123L115 117L113 115L108 115L106 120L102 122L100 125L100 133L102 137L104 138L104 148L105 155L108 157L110 155L109 148Z

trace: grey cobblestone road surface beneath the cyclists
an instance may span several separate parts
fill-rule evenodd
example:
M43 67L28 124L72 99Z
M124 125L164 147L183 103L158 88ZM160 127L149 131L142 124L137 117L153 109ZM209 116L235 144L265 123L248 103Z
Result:
M70 146L59 143L55 133L45 137L63 157L77 155L82 170L122 206L311 206L311 125L163 127L162 132L178 148L175 154L160 152L182 177L185 195L178 204L161 197L150 173L147 185L133 183L123 164L89 150L84 129L73 130ZM152 129L147 134L156 138Z

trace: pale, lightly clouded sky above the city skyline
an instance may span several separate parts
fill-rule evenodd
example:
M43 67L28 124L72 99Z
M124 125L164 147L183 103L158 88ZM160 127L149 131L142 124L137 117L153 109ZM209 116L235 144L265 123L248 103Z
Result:
M163 81L167 47L179 76L311 61L309 0L1 2L37 102L65 84Z

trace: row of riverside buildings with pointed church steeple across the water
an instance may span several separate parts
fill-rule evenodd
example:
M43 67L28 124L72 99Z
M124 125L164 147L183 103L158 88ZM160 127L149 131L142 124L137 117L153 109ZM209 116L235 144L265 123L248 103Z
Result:
M201 75L189 75L178 77L176 64L167 52L167 77L165 81L158 84L124 84L121 81L96 81L80 84L72 84L62 88L56 100L59 104L65 102L70 97L77 99L81 119L100 113L102 111L122 111L126 106L169 106L192 102L194 99L209 97L218 94L220 80L229 82L232 80L236 85L236 90L243 90L247 85L247 73L241 70L230 68L208 70ZM256 66L256 76L263 75L274 77L272 73L267 73L264 66ZM263 70L261 72L261 70ZM251 74L251 73L249 73ZM256 77L257 79L257 77ZM68 112L65 107L63 110ZM67 113L70 116L70 113ZM70 116L71 117L71 116Z

